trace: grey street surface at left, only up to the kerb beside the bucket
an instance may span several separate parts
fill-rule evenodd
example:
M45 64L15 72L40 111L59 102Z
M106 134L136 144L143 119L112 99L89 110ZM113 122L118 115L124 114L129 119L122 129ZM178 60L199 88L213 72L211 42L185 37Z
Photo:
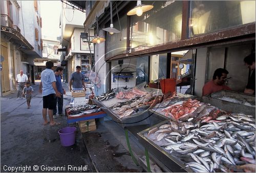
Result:
M63 84L68 89L66 83ZM22 172L26 166L27 172L34 172L34 165L38 166L38 172L54 172L50 169L57 166L62 166L66 172L80 172L78 169L68 169L68 165L70 168L87 165L87 172L95 172L79 131L75 145L61 146L58 130L67 126L65 116L55 119L61 123L58 126L42 125L39 85L36 83L32 87L34 93L30 109L27 109L26 99L16 100L16 91L1 97L1 172L11 172L11 167ZM71 93L67 92L63 104L69 104L70 99Z

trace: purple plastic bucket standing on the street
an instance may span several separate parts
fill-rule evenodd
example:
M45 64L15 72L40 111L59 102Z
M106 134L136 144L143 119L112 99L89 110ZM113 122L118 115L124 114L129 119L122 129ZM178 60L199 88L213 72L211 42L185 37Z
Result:
M65 127L58 131L62 146L71 146L76 142L76 127Z

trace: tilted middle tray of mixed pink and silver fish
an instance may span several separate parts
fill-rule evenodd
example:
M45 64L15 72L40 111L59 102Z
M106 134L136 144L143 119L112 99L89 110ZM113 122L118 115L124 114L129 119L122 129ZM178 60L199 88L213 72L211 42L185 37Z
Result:
M96 97L94 102L124 127L151 124L152 113L148 109L161 102L162 98L160 90L145 87L145 83L142 83L131 89L112 89Z

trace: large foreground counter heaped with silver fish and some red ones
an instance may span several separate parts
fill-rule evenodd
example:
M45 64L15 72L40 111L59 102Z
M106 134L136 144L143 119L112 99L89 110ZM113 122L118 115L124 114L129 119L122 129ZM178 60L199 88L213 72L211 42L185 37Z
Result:
M177 114L186 107L195 108L190 113ZM255 172L253 116L226 112L193 99L164 109L170 119L138 136L151 155L170 170Z

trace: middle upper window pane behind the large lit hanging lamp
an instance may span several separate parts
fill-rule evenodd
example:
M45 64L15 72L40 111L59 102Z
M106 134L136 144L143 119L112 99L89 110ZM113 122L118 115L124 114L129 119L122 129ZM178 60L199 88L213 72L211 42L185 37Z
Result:
M152 1L143 1L152 4ZM182 1L154 1L154 8L131 16L131 52L166 44L181 38Z

